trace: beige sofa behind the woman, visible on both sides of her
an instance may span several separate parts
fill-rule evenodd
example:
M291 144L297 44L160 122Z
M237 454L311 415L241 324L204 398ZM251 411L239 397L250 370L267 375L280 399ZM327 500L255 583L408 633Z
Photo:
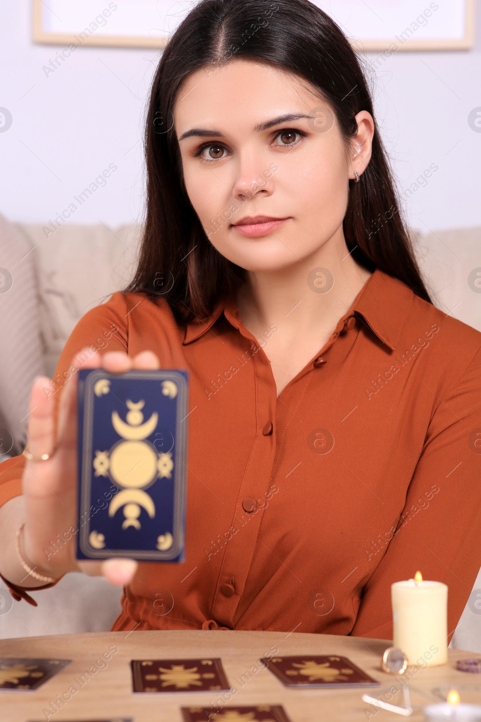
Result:
M138 225L51 230L46 224L12 225L0 217L0 266L13 280L8 292L1 292L0 283L0 429L13 437L13 447L7 449L9 437L0 435L0 453L22 451L32 380L41 373L52 375L79 318L125 287L141 235ZM415 232L415 247L438 308L481 331L481 295L467 282L469 273L481 266L481 228ZM478 589L481 600L481 575L451 645L481 652ZM25 602L15 602L7 614L0 608L0 638L107 630L120 610L118 589L79 574L34 596L37 608Z

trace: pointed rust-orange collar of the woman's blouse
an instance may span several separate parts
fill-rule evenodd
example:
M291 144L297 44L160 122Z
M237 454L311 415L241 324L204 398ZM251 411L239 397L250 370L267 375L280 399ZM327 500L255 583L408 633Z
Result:
M376 269L340 322L343 322L348 316L352 316L353 313L362 316L369 329L381 342L394 351L413 296L412 290L401 281ZM187 323L183 344L190 344L206 334L222 312L227 321L234 328L239 329L242 321L234 295L230 294L219 300L211 316L203 321L196 319Z

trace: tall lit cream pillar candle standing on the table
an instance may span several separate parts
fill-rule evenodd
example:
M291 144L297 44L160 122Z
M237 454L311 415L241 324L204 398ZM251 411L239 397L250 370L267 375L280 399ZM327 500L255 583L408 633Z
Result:
M448 588L442 582L415 579L391 586L394 647L410 664L437 666L448 661Z

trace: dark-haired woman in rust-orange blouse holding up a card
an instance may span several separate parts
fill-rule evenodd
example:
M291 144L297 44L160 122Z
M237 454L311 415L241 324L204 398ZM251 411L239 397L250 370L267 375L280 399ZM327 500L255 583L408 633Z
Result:
M1 466L4 580L102 573L115 630L387 639L420 569L451 632L481 565L481 334L431 304L343 33L306 0L203 0L146 162L135 278L36 380L29 458ZM190 372L184 564L74 560L76 370L100 366Z

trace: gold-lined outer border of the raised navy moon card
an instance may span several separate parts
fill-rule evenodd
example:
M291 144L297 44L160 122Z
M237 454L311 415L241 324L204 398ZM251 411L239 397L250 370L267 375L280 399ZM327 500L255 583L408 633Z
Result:
M81 439L81 479L79 484L79 519L82 515L89 512L89 499L90 490L92 487L92 427L93 427L93 385L95 381L100 378L107 379L118 379L131 378L131 379L148 379L148 380L175 380L177 383L179 399L179 409L184 409L187 413L188 403L188 383L185 375L177 370L159 369L152 371L140 371L131 370L124 374L108 373L104 369L92 369L84 370L86 373L82 379L84 382L83 390L83 413L84 413L84 425L82 430ZM185 372L187 373L187 372ZM80 380L80 379L79 379ZM80 409L80 404L79 404ZM154 561L154 562L171 562L182 553L184 548L184 536L185 536L185 500L187 495L186 489L186 467L182 464L182 458L185 458L185 452L187 451L187 425L182 428L182 421L180 418L181 414L177 414L176 425L176 447L175 447L175 487L174 487L174 515L172 523L172 536L174 537L174 544L166 552L162 552L159 549L111 549L105 547L104 549L94 549L89 544L90 518L80 527L79 533L79 550L87 559L108 559L110 557L129 557L139 561Z

